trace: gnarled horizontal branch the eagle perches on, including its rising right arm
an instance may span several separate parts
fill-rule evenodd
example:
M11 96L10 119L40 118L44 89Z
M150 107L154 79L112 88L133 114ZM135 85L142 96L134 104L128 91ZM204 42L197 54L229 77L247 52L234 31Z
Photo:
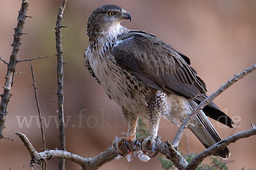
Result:
M64 158L79 164L82 167L82 170L96 170L103 164L113 160L118 155L116 149L117 143L115 143L115 141L111 142L110 147L108 147L104 152L100 153L94 158L82 158L81 156L62 150L46 150L44 152L38 153L29 142L29 139L27 139L26 135L19 132L16 132L16 134L20 137L26 148L29 150L30 156L32 158L29 166L40 164L41 161L44 161L45 159ZM199 153L189 164L169 141L163 143L160 141L159 138L156 139L155 151L162 153L166 156L167 159L171 159L179 170L195 170L198 164L203 161L204 158L211 156L218 150L222 150L230 143L236 142L241 138L247 138L253 135L256 135L256 126L253 126L249 130L236 133L235 135L227 137L220 142L212 145L203 152ZM132 151L135 151L133 147L134 141L129 142L128 145ZM152 149L150 144L148 144L147 149ZM128 152L124 144L122 144L121 146L121 152L125 154Z

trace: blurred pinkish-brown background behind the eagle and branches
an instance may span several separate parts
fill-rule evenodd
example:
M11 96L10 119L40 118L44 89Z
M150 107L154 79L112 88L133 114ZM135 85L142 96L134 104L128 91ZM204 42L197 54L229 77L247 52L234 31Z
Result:
M58 7L62 0L29 1L27 18L20 47L19 59L48 56L47 59L33 61L37 78L38 96L41 111L49 126L45 127L46 145L49 149L58 147L58 129L55 125L56 99L56 54L55 22ZM21 0L1 0L0 6L0 57L9 61L17 15ZM64 114L67 123L67 151L83 157L94 157L108 147L115 136L126 132L122 111L118 105L108 99L100 85L90 76L83 64L83 52L88 46L86 35L87 18L99 6L116 4L129 11L132 22L124 21L122 25L155 34L161 40L172 45L177 51L187 55L192 66L207 84L208 94L217 90L234 74L256 64L256 1L255 0L68 0L64 11L62 44L64 60ZM14 95L8 106L6 129L4 135L16 141L0 140L0 169L21 170L28 167L30 156L23 143L15 136L15 131L25 133L34 147L42 148L41 131L37 125L38 116L29 62L17 64L11 93ZM0 85L5 82L6 65L0 62ZM250 128L250 122L256 124L256 72L237 82L215 103L239 123L236 132ZM2 93L3 90L0 90ZM85 118L79 122L79 113ZM29 117L30 116L30 117ZM22 120L27 119L28 125ZM18 120L20 120L20 125ZM31 120L31 124L29 122ZM68 121L69 120L69 121ZM68 121L68 122L67 122ZM224 138L233 129L214 122L220 135ZM177 127L161 120L159 135L162 140L172 141ZM203 145L186 130L189 139L189 151L201 152ZM256 136L241 139L230 144L230 169L256 167ZM180 150L186 153L185 138L181 140ZM210 159L206 159L205 163ZM55 160L48 161L49 170L57 169ZM157 157L144 163L133 160L113 160L101 170L112 169L161 169ZM35 167L34 169L38 169ZM67 170L80 170L80 167L66 161Z

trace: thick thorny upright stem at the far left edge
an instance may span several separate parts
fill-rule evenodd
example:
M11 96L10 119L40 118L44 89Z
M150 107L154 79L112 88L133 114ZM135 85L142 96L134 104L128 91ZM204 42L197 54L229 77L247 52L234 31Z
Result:
M26 20L26 11L28 10L28 0L22 0L21 8L18 15L17 27L14 28L14 40L12 42L12 54L10 56L10 61L8 63L8 70L6 74L5 88L3 94L1 94L0 103L0 139L3 137L3 129L5 128L7 105L9 104L11 97L11 87L13 84L13 78L15 74L15 68L18 61L18 51L20 50L22 30L24 28L24 23Z

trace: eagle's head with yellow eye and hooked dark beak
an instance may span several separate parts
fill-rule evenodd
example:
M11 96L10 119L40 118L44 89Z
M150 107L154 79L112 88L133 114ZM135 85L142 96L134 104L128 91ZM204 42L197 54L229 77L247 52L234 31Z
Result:
M93 11L88 18L87 35L95 37L98 34L106 35L118 31L122 20L129 19L131 14L116 5L104 5Z

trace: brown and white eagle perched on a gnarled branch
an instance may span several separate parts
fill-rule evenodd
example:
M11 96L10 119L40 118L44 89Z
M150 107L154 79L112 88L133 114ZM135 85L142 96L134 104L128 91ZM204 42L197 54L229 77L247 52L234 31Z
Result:
M160 117L177 123L204 99L204 81L190 66L190 59L154 34L121 26L131 14L116 5L95 9L87 23L90 45L84 52L84 65L104 88L108 97L121 106L128 122L128 140L136 139L138 117L148 119L149 132L142 143L157 138ZM210 102L188 128L207 148L221 140L207 118L233 127L234 122ZM214 156L230 157L227 147Z

